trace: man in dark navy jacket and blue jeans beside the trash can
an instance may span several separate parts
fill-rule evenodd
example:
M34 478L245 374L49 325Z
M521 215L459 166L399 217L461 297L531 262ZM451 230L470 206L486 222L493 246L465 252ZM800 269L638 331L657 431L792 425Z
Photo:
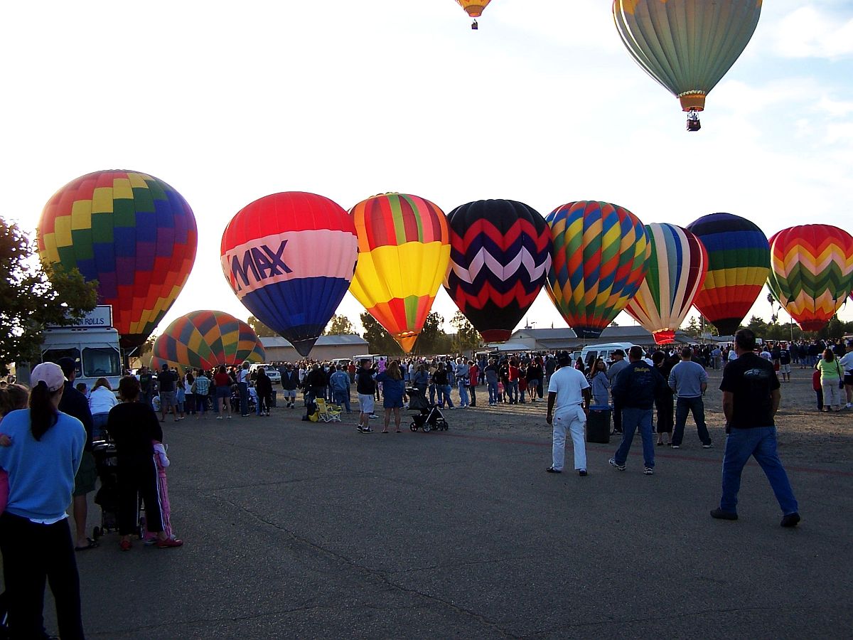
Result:
M610 464L625 470L628 451L639 428L642 438L643 473L654 473L654 439L652 436L652 410L655 397L664 393L666 381L660 375L658 367L643 359L641 346L632 346L628 350L630 363L619 371L612 393L614 403L622 406L622 442L616 454L610 458ZM554 374L556 375L556 374Z

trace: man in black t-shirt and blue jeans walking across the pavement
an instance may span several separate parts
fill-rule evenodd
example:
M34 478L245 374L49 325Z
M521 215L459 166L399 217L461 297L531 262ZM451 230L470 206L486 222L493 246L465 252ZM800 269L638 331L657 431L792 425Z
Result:
M740 472L755 457L782 509L782 527L800 521L797 500L776 453L774 417L779 409L779 379L770 364L755 353L755 334L740 329L734 335L738 358L722 371L722 412L726 415L726 451L722 457L722 497L712 518L737 520Z

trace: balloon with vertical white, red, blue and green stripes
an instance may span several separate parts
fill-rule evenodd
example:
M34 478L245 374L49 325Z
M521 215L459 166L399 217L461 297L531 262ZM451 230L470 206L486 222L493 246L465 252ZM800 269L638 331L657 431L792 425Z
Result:
M675 224L647 224L646 233L652 246L648 272L625 311L664 345L675 340L705 282L708 252L699 238Z

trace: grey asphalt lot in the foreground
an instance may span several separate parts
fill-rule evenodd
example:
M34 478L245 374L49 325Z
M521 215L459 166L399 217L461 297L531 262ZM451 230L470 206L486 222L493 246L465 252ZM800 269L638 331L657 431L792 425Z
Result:
M483 409L447 433L167 422L186 544L78 554L88 637L849 637L849 458L797 456L796 530L755 464L714 521L722 434L658 447L654 476L639 442L624 473L588 445L579 478L544 473L542 405L508 411L518 434Z

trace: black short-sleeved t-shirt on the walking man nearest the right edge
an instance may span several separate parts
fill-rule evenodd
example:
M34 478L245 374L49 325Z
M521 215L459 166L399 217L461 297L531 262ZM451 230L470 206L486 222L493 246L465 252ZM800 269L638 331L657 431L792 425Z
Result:
M733 394L734 410L729 426L736 429L773 427L773 401L779 378L773 365L755 353L746 352L722 369L720 391Z

